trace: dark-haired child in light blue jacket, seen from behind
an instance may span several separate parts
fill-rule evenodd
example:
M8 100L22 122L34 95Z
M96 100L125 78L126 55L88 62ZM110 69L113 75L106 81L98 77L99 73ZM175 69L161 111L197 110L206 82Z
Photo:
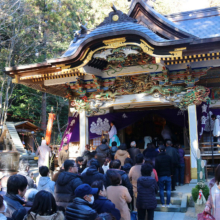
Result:
M37 185L37 190L38 191L46 190L54 194L55 182L50 180L48 167L46 166L39 167L39 173L41 177Z

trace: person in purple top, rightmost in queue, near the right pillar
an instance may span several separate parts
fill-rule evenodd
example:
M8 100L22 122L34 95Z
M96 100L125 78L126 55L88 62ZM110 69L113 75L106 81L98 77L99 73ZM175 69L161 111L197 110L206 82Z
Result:
M185 177L185 151L181 147L180 144L176 144L175 148L177 149L179 153L179 164L178 167L176 167L176 185L182 186L184 184L184 177Z

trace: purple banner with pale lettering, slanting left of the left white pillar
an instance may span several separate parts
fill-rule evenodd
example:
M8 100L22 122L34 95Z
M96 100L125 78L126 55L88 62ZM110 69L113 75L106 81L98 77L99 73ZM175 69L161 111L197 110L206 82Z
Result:
M69 117L68 119L68 126L64 132L59 151L61 151L63 144L68 144L71 141L71 137L74 134L74 128L76 128L75 130L78 130L78 138L79 138L79 113L78 112L75 112L73 117Z

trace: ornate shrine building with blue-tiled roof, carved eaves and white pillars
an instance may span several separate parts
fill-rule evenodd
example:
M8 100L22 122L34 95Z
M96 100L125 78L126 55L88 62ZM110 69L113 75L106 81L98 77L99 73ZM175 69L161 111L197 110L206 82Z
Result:
M196 180L197 149L210 166L220 159L210 136L220 103L219 23L218 7L164 16L133 0L128 14L112 6L96 28L81 26L60 58L6 73L14 83L69 99L62 144L78 141L80 152L97 145L110 119L121 142L140 146L168 125Z

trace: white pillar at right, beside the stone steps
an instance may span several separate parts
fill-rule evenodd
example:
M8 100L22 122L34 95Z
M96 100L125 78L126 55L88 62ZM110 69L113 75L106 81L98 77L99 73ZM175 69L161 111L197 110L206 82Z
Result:
M190 160L191 160L191 183L197 182L197 150L199 148L197 131L196 105L188 106L189 137L190 137Z

